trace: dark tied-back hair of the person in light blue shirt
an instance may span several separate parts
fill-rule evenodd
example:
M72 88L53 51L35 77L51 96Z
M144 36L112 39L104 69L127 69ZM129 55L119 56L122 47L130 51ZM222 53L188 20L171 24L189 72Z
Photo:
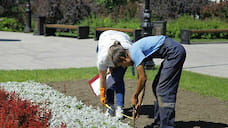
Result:
M124 59L120 57L127 57L127 49L124 49L120 42L115 41L114 44L109 48L108 56L112 60L115 66L123 62Z

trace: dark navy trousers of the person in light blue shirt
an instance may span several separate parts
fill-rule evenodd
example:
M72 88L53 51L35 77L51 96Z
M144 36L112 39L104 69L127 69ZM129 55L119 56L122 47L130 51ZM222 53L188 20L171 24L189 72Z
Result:
M156 97L154 124L160 128L174 128L177 89L186 52L180 43L166 38L165 43L151 57L164 59L152 83Z

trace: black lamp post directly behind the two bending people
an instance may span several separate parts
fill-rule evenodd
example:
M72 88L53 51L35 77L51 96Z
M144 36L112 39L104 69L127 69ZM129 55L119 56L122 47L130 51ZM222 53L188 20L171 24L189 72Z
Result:
M153 24L151 23L151 10L150 10L150 0L145 0L145 8L143 13L143 22L141 24L142 36L151 36ZM155 66L153 59L148 60L144 64L145 69L153 69Z

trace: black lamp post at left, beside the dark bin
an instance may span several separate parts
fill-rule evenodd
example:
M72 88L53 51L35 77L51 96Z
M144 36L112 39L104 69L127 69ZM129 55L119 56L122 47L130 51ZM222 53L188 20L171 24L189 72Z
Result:
M25 15L26 15L26 24L25 24L25 28L24 28L24 32L31 32L31 9L30 9L30 0L26 1L26 9L25 9Z

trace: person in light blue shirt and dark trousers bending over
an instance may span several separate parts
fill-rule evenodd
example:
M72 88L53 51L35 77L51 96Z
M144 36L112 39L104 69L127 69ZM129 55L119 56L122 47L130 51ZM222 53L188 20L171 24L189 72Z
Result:
M129 49L114 44L109 57L115 66L135 65L138 72L136 90L131 98L133 107L139 109L143 100L147 76L144 62L152 58L164 59L154 78L152 89L156 97L153 127L174 128L177 89L185 61L184 47L166 36L149 36L136 41Z

